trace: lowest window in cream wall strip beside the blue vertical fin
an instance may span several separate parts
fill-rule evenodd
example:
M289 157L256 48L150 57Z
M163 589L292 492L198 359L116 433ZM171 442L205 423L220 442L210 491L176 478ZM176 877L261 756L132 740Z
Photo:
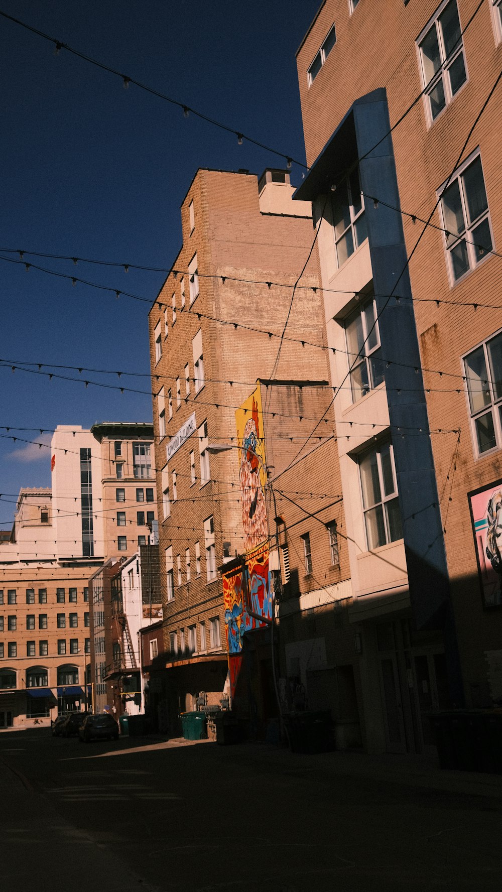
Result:
M398 488L391 443L366 453L359 462L368 549L401 539Z

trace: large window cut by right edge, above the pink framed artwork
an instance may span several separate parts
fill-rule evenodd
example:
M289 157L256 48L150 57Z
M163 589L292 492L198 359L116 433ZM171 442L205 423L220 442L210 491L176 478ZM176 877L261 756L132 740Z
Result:
M502 331L464 359L473 439L479 455L502 448Z

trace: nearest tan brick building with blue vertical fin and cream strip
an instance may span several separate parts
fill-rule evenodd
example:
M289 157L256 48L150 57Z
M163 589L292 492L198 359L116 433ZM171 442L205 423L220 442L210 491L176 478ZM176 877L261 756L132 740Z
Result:
M326 0L297 54L374 750L502 696L500 25Z

